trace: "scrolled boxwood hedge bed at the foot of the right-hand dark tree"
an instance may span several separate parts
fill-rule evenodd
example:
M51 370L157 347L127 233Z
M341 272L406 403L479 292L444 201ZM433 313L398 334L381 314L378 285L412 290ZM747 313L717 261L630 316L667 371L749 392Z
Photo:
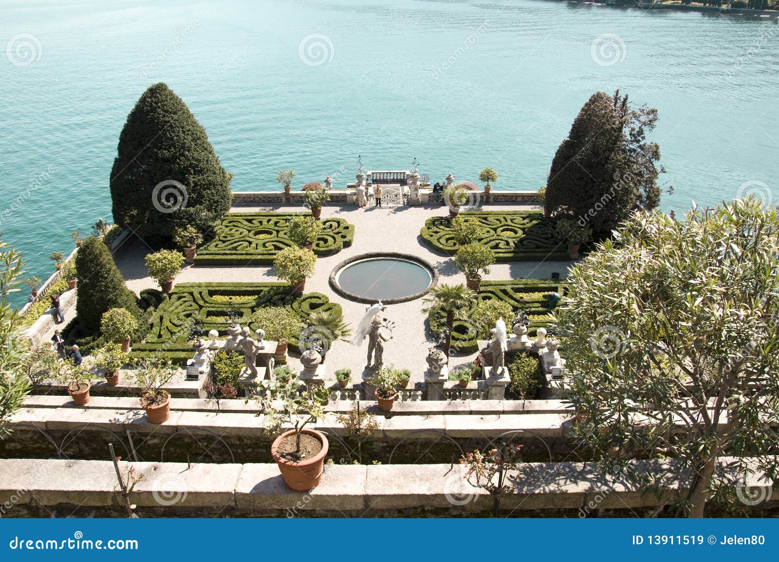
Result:
M484 235L478 240L498 261L567 261L565 241L555 236L556 219L531 210L478 210L460 213L478 219ZM450 217L432 217L422 227L422 239L442 252L456 253Z

